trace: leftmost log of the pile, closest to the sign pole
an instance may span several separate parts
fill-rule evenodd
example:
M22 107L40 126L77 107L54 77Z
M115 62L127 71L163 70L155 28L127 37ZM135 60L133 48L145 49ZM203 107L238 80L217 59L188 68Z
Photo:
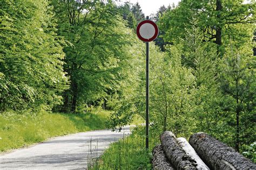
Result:
M153 149L152 166L153 166L153 169L157 169L157 170L160 170L160 169L174 170L174 168L166 158L161 144L158 144Z

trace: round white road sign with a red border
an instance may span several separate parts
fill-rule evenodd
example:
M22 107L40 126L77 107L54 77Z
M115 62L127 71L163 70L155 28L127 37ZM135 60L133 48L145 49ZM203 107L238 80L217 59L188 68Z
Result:
M144 20L137 26L137 36L144 42L150 42L157 38L158 27L152 20Z

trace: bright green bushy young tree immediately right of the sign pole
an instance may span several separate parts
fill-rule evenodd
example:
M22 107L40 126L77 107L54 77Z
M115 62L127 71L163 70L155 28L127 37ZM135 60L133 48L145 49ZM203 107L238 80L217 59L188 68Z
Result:
M170 56L164 53L151 58L151 119L158 131L173 131L176 136L188 136L191 119L190 93L194 76L181 65L179 47L172 47ZM152 52L153 53L153 52Z

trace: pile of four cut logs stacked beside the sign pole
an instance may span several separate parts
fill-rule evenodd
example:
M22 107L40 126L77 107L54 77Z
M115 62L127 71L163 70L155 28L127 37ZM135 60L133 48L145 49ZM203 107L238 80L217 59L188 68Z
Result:
M256 169L256 165L204 132L193 134L189 143L172 132L160 136L153 149L153 169Z

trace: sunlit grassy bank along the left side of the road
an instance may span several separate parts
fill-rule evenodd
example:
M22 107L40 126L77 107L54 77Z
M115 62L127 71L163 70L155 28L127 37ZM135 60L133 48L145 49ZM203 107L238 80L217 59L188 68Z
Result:
M5 112L0 115L0 152L38 143L50 137L104 129L108 115L107 111L95 114L41 112L36 116Z

